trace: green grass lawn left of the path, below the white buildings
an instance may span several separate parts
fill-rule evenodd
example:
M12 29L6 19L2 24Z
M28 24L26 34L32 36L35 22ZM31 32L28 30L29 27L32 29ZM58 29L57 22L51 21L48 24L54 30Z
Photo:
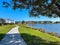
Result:
M3 25L0 26L0 40L5 36L5 34L10 31L15 25Z

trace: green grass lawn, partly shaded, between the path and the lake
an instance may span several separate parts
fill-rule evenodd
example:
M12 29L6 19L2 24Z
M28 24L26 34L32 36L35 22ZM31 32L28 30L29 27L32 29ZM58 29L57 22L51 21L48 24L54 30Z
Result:
M19 32L27 45L60 45L60 38L20 25Z

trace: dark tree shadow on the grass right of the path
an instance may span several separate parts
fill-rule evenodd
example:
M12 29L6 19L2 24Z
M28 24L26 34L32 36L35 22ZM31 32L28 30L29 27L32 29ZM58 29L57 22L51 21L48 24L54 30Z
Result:
M29 35L29 34L21 34L23 39L26 41L27 45L60 45L59 42L51 42L47 40L43 40L40 37Z

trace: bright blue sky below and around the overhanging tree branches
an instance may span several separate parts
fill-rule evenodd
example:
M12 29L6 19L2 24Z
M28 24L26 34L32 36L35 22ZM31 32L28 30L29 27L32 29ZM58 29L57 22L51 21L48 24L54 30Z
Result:
M60 21L60 18L48 18L40 16L38 17L29 17L28 10L24 9L23 11L20 10L12 10L11 8L3 8L2 1L9 1L9 0L0 0L0 18L11 19L15 21Z

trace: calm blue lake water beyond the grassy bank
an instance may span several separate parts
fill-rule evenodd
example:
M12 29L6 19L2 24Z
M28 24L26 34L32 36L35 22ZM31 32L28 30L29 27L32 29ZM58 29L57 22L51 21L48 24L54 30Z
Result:
M60 34L60 24L29 24L34 28L43 28L47 32L56 32Z

